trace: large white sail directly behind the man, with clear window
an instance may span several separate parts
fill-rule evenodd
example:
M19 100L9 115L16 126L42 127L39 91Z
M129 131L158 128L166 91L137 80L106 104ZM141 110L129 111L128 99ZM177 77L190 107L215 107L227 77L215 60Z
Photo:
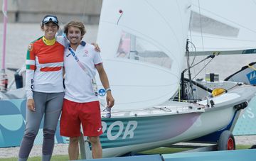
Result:
M114 109L159 105L176 93L190 6L187 0L103 1L97 43Z

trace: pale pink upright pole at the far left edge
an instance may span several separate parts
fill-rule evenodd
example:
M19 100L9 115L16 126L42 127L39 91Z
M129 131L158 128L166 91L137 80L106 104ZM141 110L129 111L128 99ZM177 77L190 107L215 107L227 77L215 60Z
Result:
M5 57L6 57L6 27L7 27L7 0L3 1L3 15L4 15L4 34L3 34L3 51L2 51L2 64L0 75L0 91L6 91L8 79L5 73Z

